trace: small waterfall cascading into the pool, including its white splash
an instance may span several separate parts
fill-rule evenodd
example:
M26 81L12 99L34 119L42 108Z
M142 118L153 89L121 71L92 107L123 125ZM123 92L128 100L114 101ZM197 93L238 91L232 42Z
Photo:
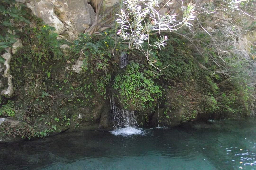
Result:
M114 97L110 98L111 114L114 131L111 133L114 135L133 135L142 134L142 130L137 128L138 124L134 111L124 110L116 106Z

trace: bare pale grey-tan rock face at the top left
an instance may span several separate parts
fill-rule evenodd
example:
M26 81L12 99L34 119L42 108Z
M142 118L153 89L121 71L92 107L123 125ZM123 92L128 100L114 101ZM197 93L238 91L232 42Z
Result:
M86 0L34 0L27 3L27 7L55 27L58 34L66 33L71 40L88 29L95 19L95 12Z

